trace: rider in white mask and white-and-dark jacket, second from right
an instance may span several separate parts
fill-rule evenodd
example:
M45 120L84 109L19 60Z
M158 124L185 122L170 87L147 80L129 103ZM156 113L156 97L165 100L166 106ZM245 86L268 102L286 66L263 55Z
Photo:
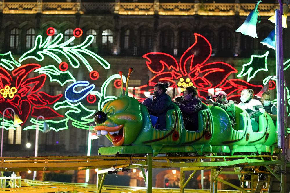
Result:
M240 102L239 106L248 112L251 118L252 129L254 132L257 132L259 129L258 116L265 113L265 109L259 100L252 99L252 97L253 93L251 92L250 89L242 90L241 93L242 102Z

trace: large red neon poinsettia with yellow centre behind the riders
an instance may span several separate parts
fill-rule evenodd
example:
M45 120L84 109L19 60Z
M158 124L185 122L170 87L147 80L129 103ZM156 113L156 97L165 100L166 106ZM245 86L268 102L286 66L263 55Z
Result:
M228 93L228 98L237 97L243 89L252 88L255 92L260 91L262 85L253 85L239 79L229 79L232 73L238 71L224 62L206 63L211 57L212 48L209 41L202 35L195 33L195 43L181 56L179 62L170 54L150 52L143 56L146 58L148 69L156 74L149 80L149 86L158 82L170 82L171 87L181 88L194 85L199 90L199 96L204 98L208 95L208 89L221 88ZM135 93L144 93L147 85L135 89ZM140 98L142 100L142 98Z

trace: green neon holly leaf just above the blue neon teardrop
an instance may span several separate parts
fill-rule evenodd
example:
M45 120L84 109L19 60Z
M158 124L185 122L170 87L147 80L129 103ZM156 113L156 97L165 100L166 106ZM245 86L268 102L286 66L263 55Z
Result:
M58 82L61 86L64 86L64 84L66 84L67 82L76 82L70 71L60 71L54 65L41 67L39 69L36 69L35 72L38 72L39 74L46 74L50 78L51 82Z

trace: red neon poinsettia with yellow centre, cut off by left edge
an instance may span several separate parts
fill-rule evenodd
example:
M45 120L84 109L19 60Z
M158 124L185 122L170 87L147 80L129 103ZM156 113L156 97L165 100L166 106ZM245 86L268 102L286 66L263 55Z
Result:
M46 119L63 117L46 106L59 100L62 94L51 96L39 91L44 85L46 75L33 77L33 71L40 67L39 64L22 65L12 71L12 76L0 67L0 112L2 114L4 109L10 107L24 123L29 115L32 117L42 115ZM8 112L5 115L10 117Z

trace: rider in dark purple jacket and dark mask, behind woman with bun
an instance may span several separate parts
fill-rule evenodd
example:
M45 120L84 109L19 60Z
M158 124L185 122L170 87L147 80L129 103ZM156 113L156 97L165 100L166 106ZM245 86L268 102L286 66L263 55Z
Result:
M202 109L202 102L197 98L197 89L195 86L186 87L184 91L184 100L182 102L175 101L180 108L184 127L189 131L198 130L198 111Z

